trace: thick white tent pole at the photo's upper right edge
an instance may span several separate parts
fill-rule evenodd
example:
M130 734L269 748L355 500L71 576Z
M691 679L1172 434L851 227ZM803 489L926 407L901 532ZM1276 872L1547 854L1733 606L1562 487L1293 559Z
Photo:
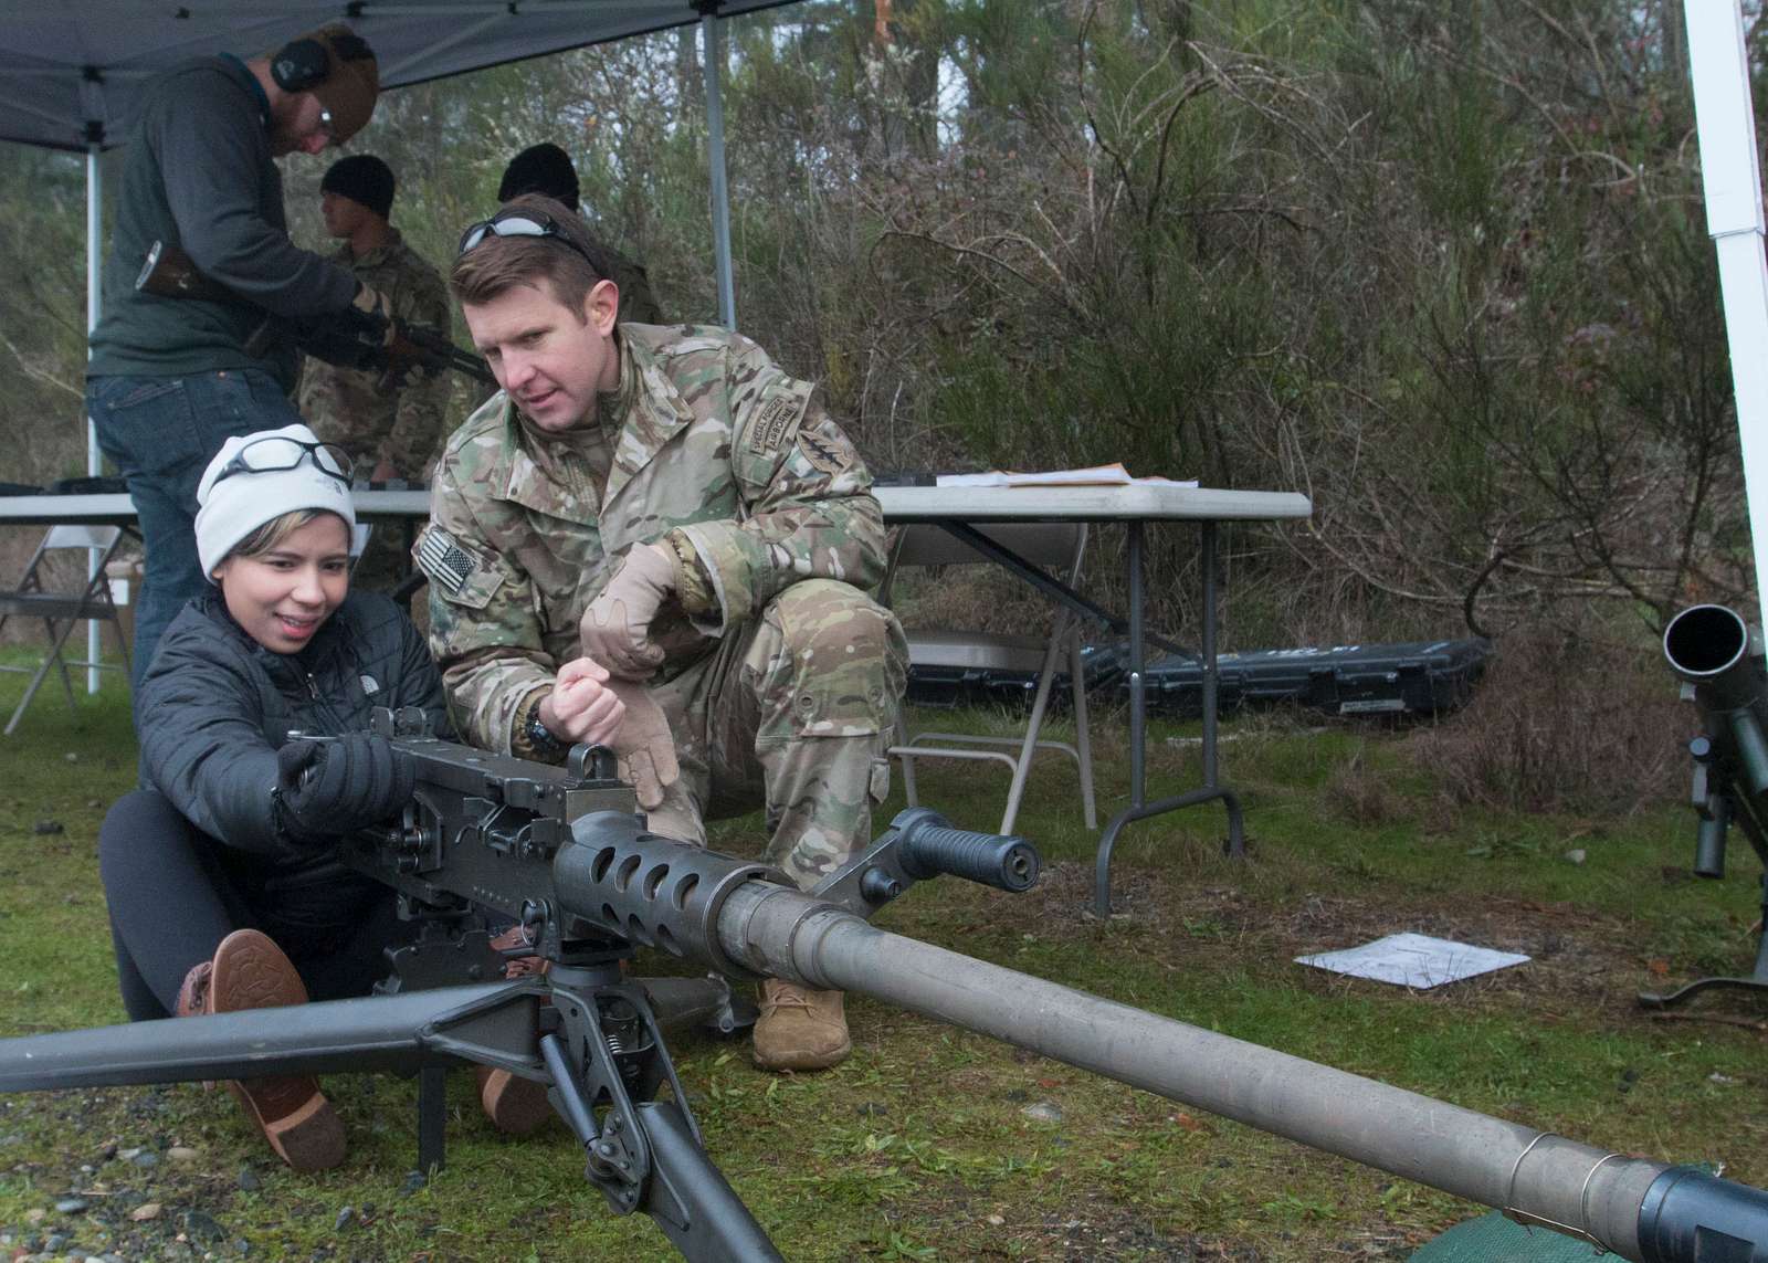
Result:
M1768 262L1763 258L1763 193L1756 165L1756 115L1743 51L1743 7L1687 4L1694 117L1701 134L1706 232L1718 251L1718 287L1731 343L1743 490L1756 545L1756 596L1768 626Z

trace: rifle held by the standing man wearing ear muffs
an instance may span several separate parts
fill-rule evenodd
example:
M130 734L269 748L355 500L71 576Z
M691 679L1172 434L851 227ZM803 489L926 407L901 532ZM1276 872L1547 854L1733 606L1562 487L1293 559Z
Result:
M180 246L156 241L134 278L134 288L163 299L202 299L205 302L246 302L225 285L205 276ZM355 318L366 318L357 317ZM246 354L265 356L278 338L288 336L301 350L324 359L327 364L380 371L385 386L394 386L414 366L426 370L453 370L484 386L497 386L492 370L477 356L461 350L438 329L392 318L392 336L385 336L385 327L375 331L377 341L370 343L336 322L325 320L279 320L265 318L246 340Z

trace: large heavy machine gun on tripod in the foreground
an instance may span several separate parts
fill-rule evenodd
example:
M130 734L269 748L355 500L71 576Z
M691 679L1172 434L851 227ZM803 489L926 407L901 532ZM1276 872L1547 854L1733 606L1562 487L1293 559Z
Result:
M398 824L352 837L354 867L421 920L389 994L202 1021L0 1040L0 1091L265 1074L419 1077L421 1160L440 1159L446 1067L546 1084L615 1212L642 1210L688 1258L773 1259L705 1155L663 1028L743 1017L727 978L866 994L1276 1136L1503 1208L1641 1263L1768 1261L1768 1194L1607 1153L1296 1056L974 961L870 925L941 872L1004 890L1038 876L1020 838L896 817L813 892L764 865L652 835L596 750L548 768L437 741L410 715L377 727L417 762ZM523 922L541 976L499 982L477 909ZM716 971L628 980L656 948ZM663 1086L668 1095L663 1095Z

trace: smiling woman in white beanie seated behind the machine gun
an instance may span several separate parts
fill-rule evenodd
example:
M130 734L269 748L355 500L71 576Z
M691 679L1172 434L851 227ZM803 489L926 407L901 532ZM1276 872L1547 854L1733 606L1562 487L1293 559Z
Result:
M198 504L212 591L159 640L134 697L143 789L99 831L134 1021L366 994L401 936L392 892L332 851L394 817L414 780L370 711L417 706L447 727L410 619L348 591L348 456L304 425L228 439ZM343 1160L311 1077L230 1086L295 1169Z

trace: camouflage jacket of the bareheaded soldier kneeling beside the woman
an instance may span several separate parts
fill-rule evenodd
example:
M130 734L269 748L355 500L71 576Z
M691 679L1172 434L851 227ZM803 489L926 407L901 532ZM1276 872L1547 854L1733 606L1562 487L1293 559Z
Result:
M884 515L872 474L815 387L718 327L619 325L606 479L583 444L523 426L495 394L453 433L414 550L430 577L430 651L456 729L509 752L523 702L576 658L583 609L626 552L667 540L681 623L665 674L801 578L873 586ZM617 428L615 428L617 425Z

